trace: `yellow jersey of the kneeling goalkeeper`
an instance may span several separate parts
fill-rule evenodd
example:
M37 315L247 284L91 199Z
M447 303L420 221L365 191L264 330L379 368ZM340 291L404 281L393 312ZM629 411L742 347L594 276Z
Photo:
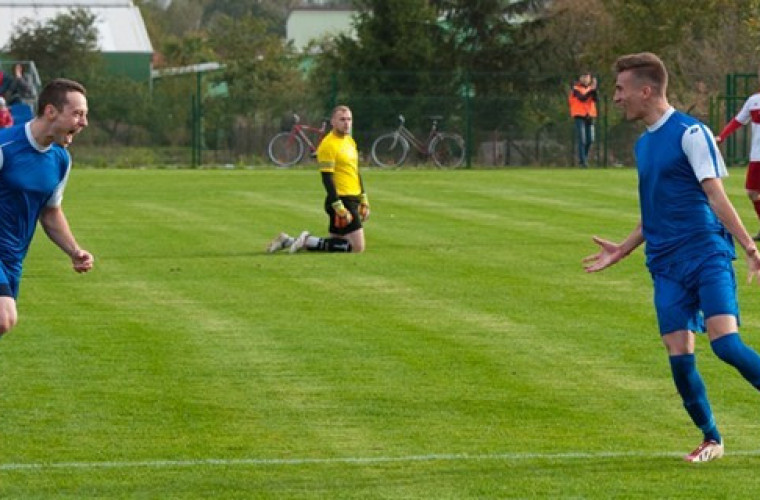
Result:
M317 148L320 172L333 174L338 196L359 196L362 193L359 180L359 152L354 138L330 132Z

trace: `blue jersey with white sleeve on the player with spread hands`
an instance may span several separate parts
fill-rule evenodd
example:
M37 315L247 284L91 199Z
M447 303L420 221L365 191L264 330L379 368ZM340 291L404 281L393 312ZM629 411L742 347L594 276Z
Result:
M707 127L671 108L647 127L635 154L649 269L718 253L734 258L731 235L702 189L705 179L728 175Z

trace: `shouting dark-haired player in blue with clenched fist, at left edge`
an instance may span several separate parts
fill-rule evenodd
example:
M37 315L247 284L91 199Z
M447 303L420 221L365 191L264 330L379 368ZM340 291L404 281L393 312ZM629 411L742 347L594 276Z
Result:
M71 170L66 148L86 126L85 88L61 78L42 89L31 121L0 130L0 335L18 320L21 267L37 221L75 271L92 269L93 256L79 246L61 208Z

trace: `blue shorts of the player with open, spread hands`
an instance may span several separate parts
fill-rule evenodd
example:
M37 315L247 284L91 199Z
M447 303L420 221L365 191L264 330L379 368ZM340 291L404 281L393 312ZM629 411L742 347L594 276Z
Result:
M653 272L652 278L661 335L677 330L705 332L705 319L718 314L731 314L739 321L736 275L726 255L671 264Z

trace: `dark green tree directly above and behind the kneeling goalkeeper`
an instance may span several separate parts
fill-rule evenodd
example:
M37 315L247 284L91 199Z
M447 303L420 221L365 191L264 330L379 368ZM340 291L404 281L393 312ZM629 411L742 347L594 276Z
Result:
M400 112L412 125L425 115L449 114L457 84L430 3L360 0L356 5L356 37L325 41L310 77L322 95L333 97L330 105L351 96L360 142L366 131L394 124Z

